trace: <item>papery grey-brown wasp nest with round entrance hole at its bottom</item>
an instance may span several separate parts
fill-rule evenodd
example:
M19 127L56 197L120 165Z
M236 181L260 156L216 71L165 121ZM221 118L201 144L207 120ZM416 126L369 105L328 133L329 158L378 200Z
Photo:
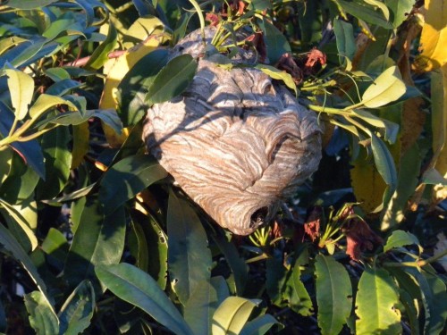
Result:
M207 29L208 42L213 32ZM196 31L173 56L204 50ZM254 57L240 50L234 62ZM185 193L239 235L273 219L321 158L315 113L262 71L225 70L206 58L181 96L148 110L143 136Z

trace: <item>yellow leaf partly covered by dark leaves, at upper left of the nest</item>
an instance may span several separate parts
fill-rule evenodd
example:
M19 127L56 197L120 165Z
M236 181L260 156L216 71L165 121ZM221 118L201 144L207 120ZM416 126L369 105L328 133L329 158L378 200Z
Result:
M117 109L118 105L114 92L116 88L118 88L122 78L124 78L126 73L135 63L137 63L144 55L154 51L163 41L164 37L157 38L155 36L154 38L148 38L145 42L125 51L125 53L118 58L110 59L105 64L107 77L105 79L104 91L99 102L99 108ZM105 138L107 138L110 147L120 147L129 135L130 130L124 128L122 130L122 135L119 135L104 122L102 124Z

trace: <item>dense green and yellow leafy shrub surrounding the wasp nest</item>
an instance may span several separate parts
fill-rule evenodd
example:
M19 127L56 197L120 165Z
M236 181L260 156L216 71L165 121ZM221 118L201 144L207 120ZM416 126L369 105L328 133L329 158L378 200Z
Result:
M445 331L446 8L3 2L0 331ZM163 50L198 13L222 38L257 33L244 46L325 126L313 179L247 238L209 222L140 139L151 101L181 92Z

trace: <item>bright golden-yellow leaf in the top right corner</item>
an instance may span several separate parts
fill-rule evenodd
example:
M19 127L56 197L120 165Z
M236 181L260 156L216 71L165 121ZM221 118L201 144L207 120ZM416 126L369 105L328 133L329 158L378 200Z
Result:
M425 23L420 38L422 53L415 60L416 71L432 71L447 63L447 0L426 0Z

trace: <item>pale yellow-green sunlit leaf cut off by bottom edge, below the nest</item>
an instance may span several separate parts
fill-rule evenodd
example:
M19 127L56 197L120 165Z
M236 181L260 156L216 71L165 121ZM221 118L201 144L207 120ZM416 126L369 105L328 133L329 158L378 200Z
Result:
M245 297L227 297L213 315L213 335L239 334L249 320L253 308L261 300Z

